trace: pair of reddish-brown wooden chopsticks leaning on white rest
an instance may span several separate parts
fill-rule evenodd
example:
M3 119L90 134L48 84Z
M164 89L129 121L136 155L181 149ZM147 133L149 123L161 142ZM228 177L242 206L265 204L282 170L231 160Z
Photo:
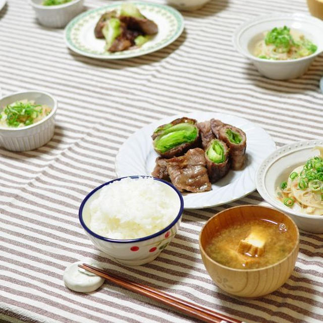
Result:
M240 320L231 318L227 315L223 315L211 309L207 309L200 305L182 300L170 294L164 293L155 289L153 287L148 287L146 285L132 282L126 278L119 277L112 274L107 274L105 271L100 268L93 267L86 263L79 264L79 267L96 274L110 282L113 282L119 286L122 286L132 292L147 296L151 299L157 300L163 304L169 305L176 308L177 310L198 318L207 323L243 323Z

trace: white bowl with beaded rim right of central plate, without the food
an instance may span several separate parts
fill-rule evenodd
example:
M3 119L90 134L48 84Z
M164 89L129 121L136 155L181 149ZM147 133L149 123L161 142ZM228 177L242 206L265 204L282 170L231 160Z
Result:
M288 179L290 172L304 165L310 157L318 155L315 146L323 146L323 140L309 140L283 146L265 158L256 173L256 187L259 194L268 203L288 213L299 229L323 233L323 216L311 216L302 213L295 203L292 208L285 206L276 197L276 189Z

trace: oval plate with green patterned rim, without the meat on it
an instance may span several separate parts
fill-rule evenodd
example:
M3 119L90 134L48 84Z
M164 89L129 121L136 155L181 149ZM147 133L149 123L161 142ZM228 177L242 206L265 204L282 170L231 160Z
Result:
M65 28L67 46L80 55L103 59L128 59L148 54L163 48L177 39L184 29L183 16L174 8L145 2L132 2L140 12L158 26L158 33L141 47L109 52L105 50L105 40L94 36L94 27L107 11L118 10L122 2L89 10L75 17Z

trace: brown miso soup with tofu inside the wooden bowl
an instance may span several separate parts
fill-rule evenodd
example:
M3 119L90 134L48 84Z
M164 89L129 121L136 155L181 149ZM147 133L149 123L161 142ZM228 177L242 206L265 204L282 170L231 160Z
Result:
M261 268L284 259L295 246L283 223L259 219L223 229L206 246L213 260L232 268Z

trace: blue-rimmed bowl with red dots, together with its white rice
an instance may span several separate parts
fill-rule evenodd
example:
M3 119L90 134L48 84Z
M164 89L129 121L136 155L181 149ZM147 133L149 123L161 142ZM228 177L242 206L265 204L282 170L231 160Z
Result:
M166 181L129 176L104 183L81 203L79 220L93 244L130 266L155 259L176 235L184 202Z

